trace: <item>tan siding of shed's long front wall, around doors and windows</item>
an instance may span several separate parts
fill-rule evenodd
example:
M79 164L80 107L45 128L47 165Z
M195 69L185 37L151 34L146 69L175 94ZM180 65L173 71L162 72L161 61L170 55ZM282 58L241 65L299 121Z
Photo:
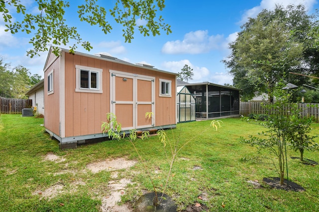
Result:
M103 69L103 93L75 92L75 65ZM159 78L172 81L172 93L175 93L175 76L157 71L131 67L79 55L65 54L65 136L83 136L101 133L101 122L106 121L110 112L110 72L124 71L140 75L156 76L155 104L156 126L175 124L175 96L159 97ZM57 107L58 108L58 107ZM141 108L142 109L142 108ZM145 109L144 109L145 110ZM58 115L56 116L58 117ZM128 120L131 122L132 120ZM142 122L142 120L141 120Z

